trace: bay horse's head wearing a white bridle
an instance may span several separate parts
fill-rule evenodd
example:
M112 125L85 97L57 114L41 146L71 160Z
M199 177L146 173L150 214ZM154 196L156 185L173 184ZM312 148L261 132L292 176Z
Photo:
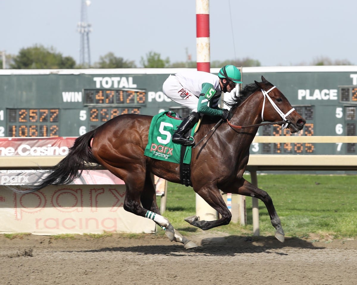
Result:
M290 102L278 88L262 76L262 82L254 81L263 94L262 121L285 121L283 128L291 133L300 131L306 120L291 106Z

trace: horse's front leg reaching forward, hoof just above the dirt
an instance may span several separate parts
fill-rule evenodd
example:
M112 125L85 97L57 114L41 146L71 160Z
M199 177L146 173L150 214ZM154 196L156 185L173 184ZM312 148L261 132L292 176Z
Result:
M255 197L255 198L258 198L261 201L263 201L263 203L265 204L265 206L268 210L271 224L276 229L275 237L280 242L284 242L285 234L284 234L283 228L281 226L280 218L279 218L277 212L275 211L273 201L267 192L254 186L252 183L248 182L244 178L241 178L241 180L237 181L231 187L231 189L228 189L228 190L224 189L224 191L228 192L228 193L237 193L237 194L244 195L244 196Z

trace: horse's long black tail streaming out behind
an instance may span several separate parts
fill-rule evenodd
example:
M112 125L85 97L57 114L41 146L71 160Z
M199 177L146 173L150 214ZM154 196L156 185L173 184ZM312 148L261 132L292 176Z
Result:
M49 173L49 175L41 179L39 184L21 186L28 188L26 190L9 188L14 192L25 194L35 192L48 185L65 185L73 182L81 176L84 165L88 163L98 164L90 149L90 142L94 133L95 130L92 130L77 138L67 156L44 172ZM41 172L43 173L43 171Z

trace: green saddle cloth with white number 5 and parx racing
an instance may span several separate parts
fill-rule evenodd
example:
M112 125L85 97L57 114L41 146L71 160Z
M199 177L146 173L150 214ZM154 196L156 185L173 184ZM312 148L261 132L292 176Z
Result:
M180 118L172 111L159 113L152 118L149 129L149 142L144 152L145 156L180 163L181 145L171 141L172 135L182 122ZM191 136L193 136L195 126L191 130ZM192 147L186 147L183 163L191 163L191 153Z

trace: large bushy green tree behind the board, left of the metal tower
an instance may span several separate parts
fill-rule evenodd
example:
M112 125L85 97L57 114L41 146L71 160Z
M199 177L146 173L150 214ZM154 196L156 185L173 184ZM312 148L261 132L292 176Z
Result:
M75 60L61 53L56 52L53 47L49 49L42 45L34 45L28 48L22 48L17 56L13 58L10 68L15 69L57 69L74 68Z

